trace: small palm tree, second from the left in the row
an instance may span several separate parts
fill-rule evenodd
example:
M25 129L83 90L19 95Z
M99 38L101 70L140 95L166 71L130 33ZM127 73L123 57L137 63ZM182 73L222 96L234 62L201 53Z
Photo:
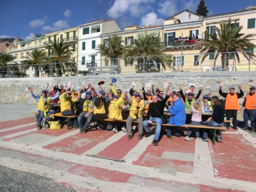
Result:
M47 70L47 66L42 65L46 63L46 53L41 52L39 49L34 49L21 63L24 65L24 69L27 70L30 67L35 70L35 77L39 77L39 70Z

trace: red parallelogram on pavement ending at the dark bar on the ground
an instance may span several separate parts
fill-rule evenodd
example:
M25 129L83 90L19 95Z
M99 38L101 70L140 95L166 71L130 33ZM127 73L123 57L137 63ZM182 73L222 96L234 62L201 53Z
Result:
M128 152L130 152L140 141L138 133L131 140L127 139L127 135L120 138L118 141L106 147L96 156L121 160Z

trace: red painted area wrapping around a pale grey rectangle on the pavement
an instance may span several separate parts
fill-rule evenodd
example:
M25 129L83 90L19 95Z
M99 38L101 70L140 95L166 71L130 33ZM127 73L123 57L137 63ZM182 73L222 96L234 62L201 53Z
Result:
M164 135L158 142L158 146L148 145L145 152L133 164L160 169L173 167L179 172L193 173L194 162L164 158L162 154L165 151L195 154L195 140L189 142L185 141L183 137L177 138L175 136L173 139L168 139Z

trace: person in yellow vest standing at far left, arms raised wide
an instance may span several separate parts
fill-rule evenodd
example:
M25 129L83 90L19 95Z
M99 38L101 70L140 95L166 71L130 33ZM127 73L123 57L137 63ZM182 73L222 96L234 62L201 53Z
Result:
M59 97L58 94L55 94L54 97L47 96L47 90L42 90L42 95L34 95L32 88L28 88L31 92L31 96L37 100L37 112L38 112L38 122L37 130L42 129L41 122L42 118L45 116L49 120L49 111L50 111L50 101Z

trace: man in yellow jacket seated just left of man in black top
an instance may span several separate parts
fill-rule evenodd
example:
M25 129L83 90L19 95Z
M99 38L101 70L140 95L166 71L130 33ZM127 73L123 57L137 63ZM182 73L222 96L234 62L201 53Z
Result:
M148 102L151 101L145 101L141 99L141 96L139 93L134 94L135 99L132 99L131 103L131 108L130 108L130 113L129 117L127 118L126 121L126 127L127 127L127 132L128 132L128 139L132 139L133 137L133 132L132 132L132 122L138 121L138 127L139 127L139 139L142 139L142 132L143 132L143 116L142 116L142 111L144 110L145 105Z

